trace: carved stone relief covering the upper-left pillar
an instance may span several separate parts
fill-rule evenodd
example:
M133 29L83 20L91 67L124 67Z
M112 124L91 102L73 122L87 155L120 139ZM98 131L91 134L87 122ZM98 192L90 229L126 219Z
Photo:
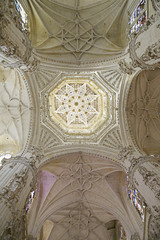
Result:
M29 32L25 29L24 23L19 16L14 2L1 1L1 21L0 21L0 51L7 57L14 59L14 63L2 61L4 67L22 68L26 71L35 71L39 66L39 61L32 54L32 46L29 40ZM8 35L7 27L14 23L14 34L21 38L21 42L13 41ZM13 27L12 27L13 28Z

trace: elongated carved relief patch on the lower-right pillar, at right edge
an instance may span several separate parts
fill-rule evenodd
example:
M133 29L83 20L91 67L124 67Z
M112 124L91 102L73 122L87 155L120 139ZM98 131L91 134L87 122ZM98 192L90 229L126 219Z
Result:
M155 172L149 171L144 166L140 166L138 171L142 175L146 186L148 186L155 193L155 197L160 200L160 177L158 177Z

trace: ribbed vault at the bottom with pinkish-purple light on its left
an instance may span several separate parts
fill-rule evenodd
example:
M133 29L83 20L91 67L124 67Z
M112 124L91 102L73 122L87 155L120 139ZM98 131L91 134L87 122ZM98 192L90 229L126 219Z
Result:
M29 215L32 234L46 221L53 223L48 239L54 240L110 239L105 224L112 220L119 220L126 232L133 231L124 205L125 173L110 159L84 153L58 157L41 167L39 184Z

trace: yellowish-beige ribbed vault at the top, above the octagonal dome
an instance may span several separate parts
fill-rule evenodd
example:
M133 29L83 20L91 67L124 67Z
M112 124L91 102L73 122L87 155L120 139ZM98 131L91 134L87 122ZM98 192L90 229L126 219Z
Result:
M126 47L127 0L27 2L37 56L74 64L113 58Z

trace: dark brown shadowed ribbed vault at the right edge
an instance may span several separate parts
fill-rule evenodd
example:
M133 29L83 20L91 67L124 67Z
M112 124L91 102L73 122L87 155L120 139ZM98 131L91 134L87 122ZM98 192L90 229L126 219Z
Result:
M142 71L130 86L127 116L133 141L148 155L160 146L160 70Z

